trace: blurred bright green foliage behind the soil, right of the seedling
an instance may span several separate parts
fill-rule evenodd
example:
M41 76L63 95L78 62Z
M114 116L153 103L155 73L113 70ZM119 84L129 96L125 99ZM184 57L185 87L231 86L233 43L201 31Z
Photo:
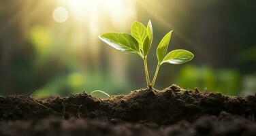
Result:
M210 67L185 66L180 69L176 83L184 88L221 92L225 95L239 95L240 74L236 70Z

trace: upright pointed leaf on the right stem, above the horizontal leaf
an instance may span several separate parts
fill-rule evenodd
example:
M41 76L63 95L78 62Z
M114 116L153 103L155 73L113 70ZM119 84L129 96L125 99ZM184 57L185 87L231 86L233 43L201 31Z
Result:
M159 43L159 46L157 47L158 63L161 63L163 61L163 58L165 57L171 36L172 36L172 31L170 31L163 37L163 39Z

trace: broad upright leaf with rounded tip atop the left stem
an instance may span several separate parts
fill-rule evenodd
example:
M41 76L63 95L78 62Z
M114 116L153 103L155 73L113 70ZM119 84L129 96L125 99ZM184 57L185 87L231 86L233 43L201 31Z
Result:
M133 22L133 24L131 24L131 35L137 39L140 44L140 49L143 50L144 40L147 37L146 27L138 21Z

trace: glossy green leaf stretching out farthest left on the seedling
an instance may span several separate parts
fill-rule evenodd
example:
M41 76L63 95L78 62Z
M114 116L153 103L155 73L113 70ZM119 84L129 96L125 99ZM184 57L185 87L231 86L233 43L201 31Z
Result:
M138 41L129 33L103 33L99 35L99 39L121 52L128 54L140 52Z

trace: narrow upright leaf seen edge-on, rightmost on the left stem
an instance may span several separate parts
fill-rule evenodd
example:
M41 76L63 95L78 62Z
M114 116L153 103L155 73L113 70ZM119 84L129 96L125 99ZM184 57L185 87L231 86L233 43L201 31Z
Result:
M150 20L148 21L148 25L146 27L146 33L147 33L147 37L143 43L144 56L148 55L148 52L149 52L151 44L152 44L152 39L153 39L153 29L152 29L152 24L151 24Z

